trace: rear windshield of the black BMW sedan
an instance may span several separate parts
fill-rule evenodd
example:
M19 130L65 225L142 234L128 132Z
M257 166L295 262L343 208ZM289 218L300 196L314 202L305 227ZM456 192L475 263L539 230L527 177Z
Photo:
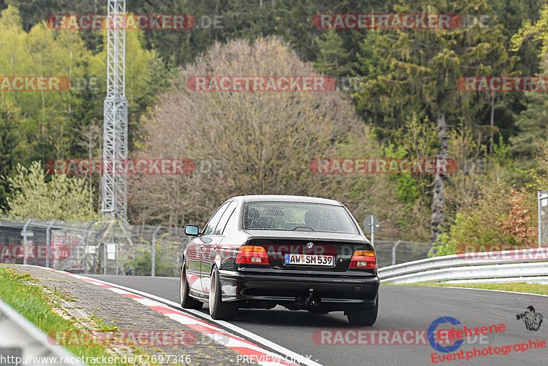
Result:
M358 234L344 207L301 202L247 202L244 228Z

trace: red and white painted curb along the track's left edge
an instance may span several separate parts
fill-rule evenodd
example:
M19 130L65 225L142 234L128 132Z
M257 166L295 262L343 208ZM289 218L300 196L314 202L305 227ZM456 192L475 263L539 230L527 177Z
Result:
M226 330L223 330L222 328L215 326L214 324L210 324L207 321L203 321L202 319L199 319L197 317L184 313L182 310L177 310L175 308L166 306L165 304L162 304L155 300L151 300L147 297L136 295L136 293L129 292L121 288L123 286L120 286L120 287L118 287L118 285L113 286L112 284L109 284L108 282L96 280L95 278L81 276L81 275L66 272L66 271L60 271L58 269L51 269L48 267L40 267L35 265L27 265L27 267L36 267L36 268L46 269L48 271L64 273L67 276L77 278L79 280L88 282L90 284L95 284L97 286L102 287L103 289L107 289L119 295L129 297L135 300L136 302L143 304L151 308L152 310L157 311L158 313L162 313L166 317L169 317L175 321L178 321L180 324L184 324L185 326L188 326L188 328L195 330L195 332L199 332L203 335L210 337L217 343L221 343L222 345L226 347L232 348L232 350L239 352L240 354L242 354L242 356L244 357L247 356L246 357L247 360L245 360L247 362L244 361L244 363L255 363L263 366L298 365L298 364L289 362L291 360L295 360L294 358L295 354L293 354L292 356L285 357L285 356L281 356L280 354L270 352L260 347L259 345L256 345L255 343L247 341L247 339L243 339L241 337L238 337L237 335L229 333ZM316 363L310 360L309 358L306 358L303 356L301 356L301 359L297 361L299 363L303 363L309 366L313 366L313 365L321 366L319 363Z

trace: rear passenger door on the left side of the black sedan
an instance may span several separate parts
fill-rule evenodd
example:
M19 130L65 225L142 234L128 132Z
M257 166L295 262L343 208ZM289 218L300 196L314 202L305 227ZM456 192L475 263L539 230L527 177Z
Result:
M199 248L198 256L200 258L200 281L201 281L201 291L209 291L209 277L211 271L211 260L214 256L214 250L217 245L219 245L219 237L214 235L215 228L226 208L231 201L225 202L218 210L213 214L210 221L203 228L201 235L197 238L199 239ZM205 285L205 286L204 286Z

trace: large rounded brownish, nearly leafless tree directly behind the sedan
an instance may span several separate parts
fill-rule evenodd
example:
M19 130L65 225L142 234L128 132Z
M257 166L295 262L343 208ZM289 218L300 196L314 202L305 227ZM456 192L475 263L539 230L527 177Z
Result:
M203 222L224 199L239 194L339 197L354 182L342 175L314 175L310 161L338 156L338 146L347 143L349 135L356 136L362 147L357 156L374 154L373 142L337 90L192 92L186 83L194 75L314 75L314 71L277 38L259 39L252 45L245 40L216 45L196 64L182 69L173 89L160 98L145 122L145 147L136 157L195 159L198 165L191 175L132 176L129 203L133 219L140 223ZM222 174L202 173L201 159L222 162ZM341 185L340 190L332 188Z

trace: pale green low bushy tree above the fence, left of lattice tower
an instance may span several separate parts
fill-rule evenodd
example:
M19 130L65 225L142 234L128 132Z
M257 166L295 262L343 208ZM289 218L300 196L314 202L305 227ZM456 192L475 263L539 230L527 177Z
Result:
M17 164L16 175L8 178L11 197L8 215L34 219L89 221L99 218L90 204L86 181L53 175L49 182L40 162L29 169Z

